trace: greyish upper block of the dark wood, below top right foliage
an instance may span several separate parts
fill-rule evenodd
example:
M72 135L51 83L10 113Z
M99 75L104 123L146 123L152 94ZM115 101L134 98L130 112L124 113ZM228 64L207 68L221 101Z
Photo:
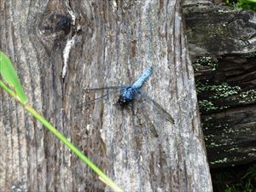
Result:
M183 12L190 55L256 51L255 12L206 4L187 4Z

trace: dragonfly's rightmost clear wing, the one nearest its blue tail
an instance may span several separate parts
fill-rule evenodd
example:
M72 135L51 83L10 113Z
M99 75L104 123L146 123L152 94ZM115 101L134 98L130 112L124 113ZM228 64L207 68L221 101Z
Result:
M143 101L148 102L149 104L152 103L155 109L157 110L157 112L159 112L162 115L162 117L164 117L166 120L174 124L174 119L172 118L171 114L168 113L166 109L162 108L160 104L158 104L157 102L154 102L154 100L151 99L150 96L148 96L147 94L143 93L140 90L137 91L137 94L139 96L139 99L142 99Z

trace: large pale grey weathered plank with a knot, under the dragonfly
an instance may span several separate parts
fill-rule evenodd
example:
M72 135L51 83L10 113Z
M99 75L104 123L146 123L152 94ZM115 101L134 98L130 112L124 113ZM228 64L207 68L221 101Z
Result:
M0 49L33 107L125 191L212 191L179 1L10 0L0 1L0 11ZM154 74L143 90L174 125L150 108L147 119L137 106L134 115L120 111L113 96L79 108L85 87L130 84L149 66ZM108 190L0 94L0 189Z

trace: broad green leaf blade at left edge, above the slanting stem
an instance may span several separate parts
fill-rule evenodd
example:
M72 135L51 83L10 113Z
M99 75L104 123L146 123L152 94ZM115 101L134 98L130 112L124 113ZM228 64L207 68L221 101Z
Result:
M18 75L15 72L15 67L9 60L9 57L3 54L2 51L0 51L0 74L2 75L4 83L8 85L9 89L15 91L16 98L20 100L21 103L25 104L27 101L26 95L22 85L20 84Z

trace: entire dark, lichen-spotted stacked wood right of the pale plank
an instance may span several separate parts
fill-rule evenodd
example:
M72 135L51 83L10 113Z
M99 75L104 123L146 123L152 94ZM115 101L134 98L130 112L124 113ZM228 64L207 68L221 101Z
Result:
M251 52L256 47L255 13L201 6L187 3L184 12L190 54L207 54L194 67L208 160L212 168L253 162L256 60Z

